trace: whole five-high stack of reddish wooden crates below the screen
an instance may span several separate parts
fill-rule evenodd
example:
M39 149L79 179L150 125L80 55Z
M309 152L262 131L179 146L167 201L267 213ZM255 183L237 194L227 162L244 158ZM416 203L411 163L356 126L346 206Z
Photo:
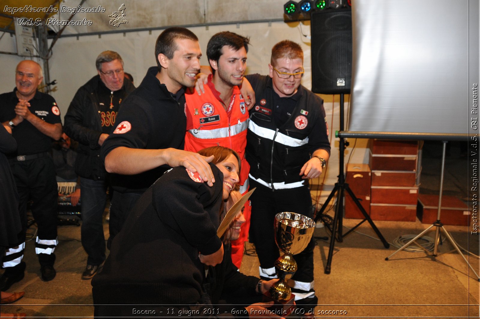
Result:
M372 220L416 220L417 161L418 141L370 141Z

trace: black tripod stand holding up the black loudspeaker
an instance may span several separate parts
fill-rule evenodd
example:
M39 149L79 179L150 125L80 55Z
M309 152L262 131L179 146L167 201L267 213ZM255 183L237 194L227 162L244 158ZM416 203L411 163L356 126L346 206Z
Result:
M340 94L340 131L344 130L344 94ZM333 258L333 251L335 247L335 240L341 243L343 241L343 237L347 236L349 233L353 232L357 227L359 227L362 223L365 221L368 221L370 225L372 226L373 231L377 234L378 238L382 241L384 244L385 248L390 247L390 245L387 243L385 240L384 236L380 231L378 230L377 226L373 223L372 219L370 216L367 214L365 209L361 206L359 200L357 199L357 196L353 193L353 191L350 189L347 183L345 183L345 175L344 175L344 155L345 155L345 147L346 147L346 142L345 138L340 138L340 153L339 153L339 174L338 174L338 182L335 183L335 187L328 196L327 200L325 201L324 205L322 208L318 211L317 216L315 217L315 221L318 221L326 207L328 206L328 203L332 200L332 198L335 196L336 192L338 192L338 197L337 197L337 203L336 203L336 208L335 208L335 216L334 216L334 221L332 225L332 235L330 238L330 248L328 250L328 258L327 258L327 264L325 266L324 272L326 274L330 273L331 267L332 267L332 258ZM345 191L347 191L348 195L353 199L355 205L360 209L361 213L365 217L363 221L360 221L355 227L350 229L347 233L342 235L342 224L343 224L343 215L344 215L344 207L343 207L343 199L345 197ZM336 233L338 234L338 237L336 239Z

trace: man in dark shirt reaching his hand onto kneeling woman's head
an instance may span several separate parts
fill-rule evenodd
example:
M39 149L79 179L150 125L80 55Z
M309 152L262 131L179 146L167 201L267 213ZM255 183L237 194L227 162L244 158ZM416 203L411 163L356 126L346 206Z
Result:
M183 150L184 91L195 83L201 54L192 31L182 27L164 30L156 40L157 66L148 69L140 86L122 102L117 127L105 140L101 154L107 172L115 173L108 246L137 199L170 167L182 165L199 172L210 186L215 181L208 165L212 158Z

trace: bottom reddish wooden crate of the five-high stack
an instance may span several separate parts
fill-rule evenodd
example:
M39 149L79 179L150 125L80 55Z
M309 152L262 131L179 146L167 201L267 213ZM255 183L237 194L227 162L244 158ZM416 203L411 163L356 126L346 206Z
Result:
M370 217L374 221L416 221L416 205L370 204Z

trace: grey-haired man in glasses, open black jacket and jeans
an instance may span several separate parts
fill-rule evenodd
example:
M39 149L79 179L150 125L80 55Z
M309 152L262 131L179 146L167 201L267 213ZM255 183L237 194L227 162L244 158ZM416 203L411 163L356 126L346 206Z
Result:
M65 133L79 142L75 172L82 189L82 245L88 254L82 279L91 279L105 260L102 217L108 183L100 147L115 127L122 100L135 88L124 78L117 52L100 53L95 64L98 75L78 89L65 115Z

